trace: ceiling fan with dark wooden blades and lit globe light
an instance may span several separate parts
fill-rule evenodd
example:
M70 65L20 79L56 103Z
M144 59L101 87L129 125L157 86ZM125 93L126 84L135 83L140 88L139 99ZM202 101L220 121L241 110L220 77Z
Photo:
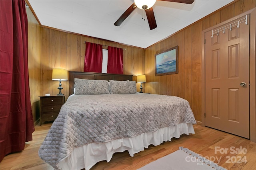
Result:
M179 2L184 4L192 4L194 0L158 0L158 1L168 1L168 2ZM154 11L152 6L156 3L156 0L134 0L134 3L118 18L114 25L119 26L121 23L135 10L135 8L140 8L145 10L148 19L148 24L150 29L155 29L156 18L154 16Z

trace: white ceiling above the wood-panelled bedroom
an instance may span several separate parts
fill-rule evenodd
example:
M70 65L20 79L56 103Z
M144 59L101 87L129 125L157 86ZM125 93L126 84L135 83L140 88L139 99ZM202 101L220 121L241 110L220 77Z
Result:
M195 0L192 4L156 1L157 28L150 30L136 8L119 26L115 21L134 0L28 0L42 25L147 48L233 0Z

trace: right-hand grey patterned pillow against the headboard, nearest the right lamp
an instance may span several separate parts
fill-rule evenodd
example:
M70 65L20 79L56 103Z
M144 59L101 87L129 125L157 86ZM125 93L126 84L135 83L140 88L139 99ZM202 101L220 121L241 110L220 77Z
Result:
M135 81L116 81L109 80L111 94L134 94L136 90Z

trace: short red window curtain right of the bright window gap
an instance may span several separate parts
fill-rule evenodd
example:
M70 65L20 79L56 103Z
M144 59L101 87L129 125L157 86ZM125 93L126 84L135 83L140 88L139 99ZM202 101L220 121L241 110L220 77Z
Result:
M123 49L116 47L108 47L107 73L124 74Z

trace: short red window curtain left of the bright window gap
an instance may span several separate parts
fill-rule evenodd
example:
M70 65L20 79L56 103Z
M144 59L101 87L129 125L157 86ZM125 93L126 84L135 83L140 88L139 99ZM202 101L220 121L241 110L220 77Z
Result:
M102 71L102 45L86 42L84 71L101 72Z

